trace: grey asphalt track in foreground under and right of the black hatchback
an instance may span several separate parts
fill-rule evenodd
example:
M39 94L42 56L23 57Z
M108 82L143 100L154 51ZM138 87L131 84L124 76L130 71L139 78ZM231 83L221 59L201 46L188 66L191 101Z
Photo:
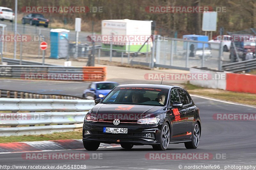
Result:
M202 134L197 149L185 149L184 144L170 144L166 151L153 151L151 146L134 146L131 151L121 147L103 148L97 151L74 150L43 153L88 153L87 160L27 160L24 153L0 154L1 165L86 165L86 169L185 169L184 166L220 165L255 166L256 136L253 120L214 120L214 113L256 113L255 108L192 97L200 108ZM42 153L42 152L36 152ZM150 160L149 153L208 153L210 159ZM95 154L102 159L96 158ZM222 155L222 157L217 155ZM94 157L93 157L94 155ZM220 158L220 159L217 159ZM181 167L180 166L180 167ZM193 169L193 168L192 168ZM212 168L214 169L214 168Z

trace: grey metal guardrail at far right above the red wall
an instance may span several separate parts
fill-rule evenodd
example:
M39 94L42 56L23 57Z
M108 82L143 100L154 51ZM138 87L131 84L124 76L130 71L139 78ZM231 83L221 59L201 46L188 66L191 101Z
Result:
M256 59L222 65L222 71L239 72L250 69L256 69Z

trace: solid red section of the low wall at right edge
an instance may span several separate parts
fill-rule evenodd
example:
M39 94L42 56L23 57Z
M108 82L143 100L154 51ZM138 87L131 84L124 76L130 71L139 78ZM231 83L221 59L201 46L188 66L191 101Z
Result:
M256 75L227 73L226 90L256 94Z

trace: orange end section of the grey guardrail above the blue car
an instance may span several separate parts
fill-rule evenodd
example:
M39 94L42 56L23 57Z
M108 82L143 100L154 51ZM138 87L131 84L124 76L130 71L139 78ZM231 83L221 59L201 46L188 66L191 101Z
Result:
M107 75L106 67L83 67L84 81L105 81Z

